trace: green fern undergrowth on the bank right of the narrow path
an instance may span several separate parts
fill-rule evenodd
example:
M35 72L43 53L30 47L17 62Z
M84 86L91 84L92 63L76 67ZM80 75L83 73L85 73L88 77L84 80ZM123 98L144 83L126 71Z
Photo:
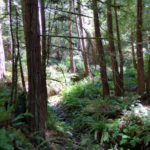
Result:
M131 81L134 71L125 77ZM133 80L132 80L133 81ZM134 81L133 81L134 82ZM134 84L135 85L135 84ZM130 83L125 83L125 88ZM71 125L80 133L80 144L86 149L143 149L150 145L148 118L139 109L136 95L128 89L123 97L101 97L101 83L94 80L82 80L62 92L62 105L70 118ZM141 114L141 116L139 115Z

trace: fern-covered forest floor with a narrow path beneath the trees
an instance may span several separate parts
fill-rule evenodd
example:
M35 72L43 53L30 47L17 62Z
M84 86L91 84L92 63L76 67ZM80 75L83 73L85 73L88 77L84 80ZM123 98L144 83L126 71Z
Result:
M134 70L125 72L123 97L113 95L110 74L111 96L105 99L101 96L99 76L72 82L69 73L64 75L54 68L51 72L47 81L47 140L43 141L49 148L46 145L44 150L150 150L150 105L147 103L149 100L143 101L136 94ZM19 121L20 117L29 114L16 116L11 108L5 110L5 102L10 99L10 87L6 84L0 86L0 149L2 145L3 148L22 147L24 150L32 147L33 150L34 133L30 135L26 125ZM22 100L24 102L24 97Z

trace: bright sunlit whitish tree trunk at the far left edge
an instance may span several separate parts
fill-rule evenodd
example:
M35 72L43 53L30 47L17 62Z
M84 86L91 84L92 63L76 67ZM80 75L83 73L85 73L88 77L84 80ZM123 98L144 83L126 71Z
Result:
M0 24L0 79L5 77L5 53L2 39L2 27Z

